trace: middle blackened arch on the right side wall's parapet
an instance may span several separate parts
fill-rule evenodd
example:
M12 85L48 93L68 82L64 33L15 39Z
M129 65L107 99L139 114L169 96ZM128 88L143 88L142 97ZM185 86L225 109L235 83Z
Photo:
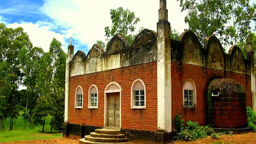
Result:
M225 53L220 40L211 35L206 38L204 47L206 67L225 70Z

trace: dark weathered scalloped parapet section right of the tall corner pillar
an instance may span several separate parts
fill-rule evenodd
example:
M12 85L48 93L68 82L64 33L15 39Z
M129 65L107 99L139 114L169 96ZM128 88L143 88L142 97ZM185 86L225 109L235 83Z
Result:
M179 40L171 40L172 60L218 70L250 74L250 60L243 57L237 45L225 54L220 40L215 35L207 37L204 48L192 31L184 31Z

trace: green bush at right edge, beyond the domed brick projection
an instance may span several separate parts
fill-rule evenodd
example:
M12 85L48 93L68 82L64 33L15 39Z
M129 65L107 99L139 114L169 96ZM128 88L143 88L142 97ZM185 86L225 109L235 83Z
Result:
M252 110L252 108L250 108L250 106L247 106L246 111L247 111L248 127L250 128L251 131L255 132L256 131L256 113Z

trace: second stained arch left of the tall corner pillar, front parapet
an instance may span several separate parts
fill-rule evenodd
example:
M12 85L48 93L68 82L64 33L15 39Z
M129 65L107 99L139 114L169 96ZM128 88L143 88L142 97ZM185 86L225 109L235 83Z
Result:
M127 47L128 42L125 37L117 33L107 44L106 53L108 55L116 54L117 52L123 51Z

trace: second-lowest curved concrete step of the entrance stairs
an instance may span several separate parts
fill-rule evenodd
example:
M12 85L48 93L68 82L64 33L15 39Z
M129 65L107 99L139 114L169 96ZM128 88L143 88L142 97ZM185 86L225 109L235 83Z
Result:
M127 138L95 138L90 135L84 136L84 140L100 143L124 143L128 142Z

